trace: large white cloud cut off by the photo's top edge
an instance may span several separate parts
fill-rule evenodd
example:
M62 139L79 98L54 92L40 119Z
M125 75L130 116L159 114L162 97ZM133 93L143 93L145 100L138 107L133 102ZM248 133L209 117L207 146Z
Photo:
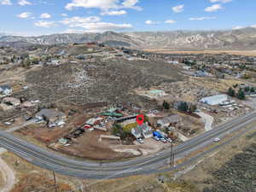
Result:
M137 7L138 0L125 0L120 3L119 0L72 0L71 3L67 3L66 9L72 10L74 8L97 8L102 10L108 9L141 9Z

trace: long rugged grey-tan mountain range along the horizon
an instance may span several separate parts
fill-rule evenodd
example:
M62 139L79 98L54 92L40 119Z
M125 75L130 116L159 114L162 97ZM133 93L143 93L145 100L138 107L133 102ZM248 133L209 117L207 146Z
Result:
M256 49L256 28L226 31L65 33L38 37L6 36L0 33L2 44L69 44L92 41L131 49Z

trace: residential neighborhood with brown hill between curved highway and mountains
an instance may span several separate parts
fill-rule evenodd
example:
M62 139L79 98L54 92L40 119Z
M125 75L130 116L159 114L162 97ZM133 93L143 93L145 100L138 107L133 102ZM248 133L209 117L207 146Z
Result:
M24 73L3 75L2 125L18 125L24 137L64 154L92 160L154 154L256 107L252 56L157 54L96 42L22 49L19 55L2 48L10 58L2 53L2 73ZM148 73L137 74L137 64Z

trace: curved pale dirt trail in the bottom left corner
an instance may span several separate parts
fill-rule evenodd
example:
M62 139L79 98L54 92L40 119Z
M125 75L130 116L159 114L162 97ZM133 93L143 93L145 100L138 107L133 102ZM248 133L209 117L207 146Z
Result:
M1 158L0 174L3 176L3 188L0 188L0 192L9 192L15 186L15 172Z

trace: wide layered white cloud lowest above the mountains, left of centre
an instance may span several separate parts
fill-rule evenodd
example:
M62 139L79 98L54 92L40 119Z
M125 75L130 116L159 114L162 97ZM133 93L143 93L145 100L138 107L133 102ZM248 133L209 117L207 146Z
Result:
M72 17L61 20L60 22L69 27L84 28L86 32L122 31L132 28L131 24L101 22L101 18L96 16Z

